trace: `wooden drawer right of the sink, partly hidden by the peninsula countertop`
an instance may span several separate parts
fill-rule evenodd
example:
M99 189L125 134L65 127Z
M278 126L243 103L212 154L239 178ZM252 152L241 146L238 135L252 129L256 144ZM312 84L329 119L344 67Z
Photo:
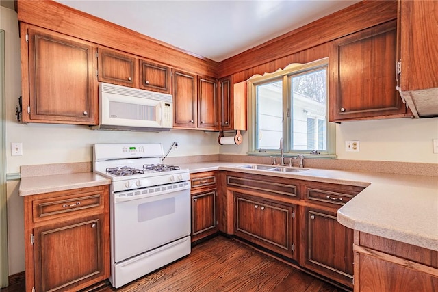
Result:
M347 185L305 185L305 196L306 200L343 205L363 189Z

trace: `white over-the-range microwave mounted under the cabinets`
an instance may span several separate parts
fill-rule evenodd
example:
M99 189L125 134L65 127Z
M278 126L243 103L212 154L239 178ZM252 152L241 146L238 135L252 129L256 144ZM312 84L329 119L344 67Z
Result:
M92 129L169 131L172 125L172 95L99 83L99 125Z

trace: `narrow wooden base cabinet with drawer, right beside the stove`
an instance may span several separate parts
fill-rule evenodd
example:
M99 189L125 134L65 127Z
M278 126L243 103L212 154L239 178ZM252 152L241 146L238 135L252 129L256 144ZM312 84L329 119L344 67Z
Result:
M201 172L190 175L192 196L192 242L218 231L216 218L218 189L216 172Z

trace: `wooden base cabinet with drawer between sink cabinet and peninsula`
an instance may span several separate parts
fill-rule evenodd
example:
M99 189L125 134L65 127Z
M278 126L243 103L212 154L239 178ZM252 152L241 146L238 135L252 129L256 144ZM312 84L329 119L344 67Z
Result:
M300 265L352 287L353 230L336 220L337 209L363 187L333 183L305 183L302 193Z

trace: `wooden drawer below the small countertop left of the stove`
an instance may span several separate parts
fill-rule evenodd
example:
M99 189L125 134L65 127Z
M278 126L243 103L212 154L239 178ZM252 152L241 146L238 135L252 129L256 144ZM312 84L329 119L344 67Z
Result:
M34 222L60 215L69 215L84 209L103 209L102 196L102 191L96 191L79 195L34 200Z

